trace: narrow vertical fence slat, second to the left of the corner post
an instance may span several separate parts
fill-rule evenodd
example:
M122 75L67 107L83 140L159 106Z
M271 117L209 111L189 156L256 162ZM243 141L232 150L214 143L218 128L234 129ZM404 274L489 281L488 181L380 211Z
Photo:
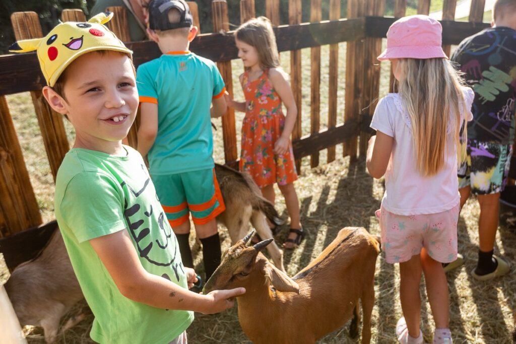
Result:
M330 20L341 18L341 1L330 0ZM330 44L330 66L329 66L329 85L328 85L328 128L337 125L337 88L338 88L338 43ZM328 160L335 160L335 146L328 148Z

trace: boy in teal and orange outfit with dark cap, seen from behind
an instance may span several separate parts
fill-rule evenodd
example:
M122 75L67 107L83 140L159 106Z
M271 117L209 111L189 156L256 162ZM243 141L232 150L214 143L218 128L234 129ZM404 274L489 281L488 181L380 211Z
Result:
M225 209L214 173L211 128L211 117L227 109L224 81L215 63L188 51L197 27L186 2L154 0L148 11L149 37L163 55L138 68L138 151L148 157L159 201L187 267L193 267L191 214L207 280L220 264L215 217Z

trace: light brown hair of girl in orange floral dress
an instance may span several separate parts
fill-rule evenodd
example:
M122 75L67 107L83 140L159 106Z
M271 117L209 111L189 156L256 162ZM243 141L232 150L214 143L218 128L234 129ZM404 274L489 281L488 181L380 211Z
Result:
M248 20L236 29L235 37L256 48L262 69L279 67L276 36L268 18L258 17Z

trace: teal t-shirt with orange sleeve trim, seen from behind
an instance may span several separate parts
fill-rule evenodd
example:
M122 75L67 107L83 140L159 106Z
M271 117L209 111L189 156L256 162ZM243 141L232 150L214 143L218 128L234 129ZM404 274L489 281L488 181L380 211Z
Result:
M167 53L138 67L136 85L140 102L158 105L158 132L148 153L151 174L213 168L209 108L225 91L215 63L190 52Z

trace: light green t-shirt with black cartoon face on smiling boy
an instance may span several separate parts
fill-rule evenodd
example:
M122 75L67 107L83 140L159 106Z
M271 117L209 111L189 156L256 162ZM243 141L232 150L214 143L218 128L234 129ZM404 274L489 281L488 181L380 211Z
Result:
M148 272L187 288L178 241L156 196L141 155L70 150L59 168L55 212L72 266L95 319L100 343L169 343L193 312L166 310L124 297L88 240L127 231Z

